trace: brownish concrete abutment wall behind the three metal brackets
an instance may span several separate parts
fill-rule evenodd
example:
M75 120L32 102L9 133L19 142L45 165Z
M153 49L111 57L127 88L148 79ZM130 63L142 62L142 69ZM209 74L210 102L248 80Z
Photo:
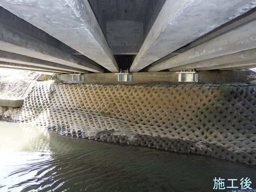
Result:
M237 71L200 71L198 72L198 82L192 84L203 84L205 82L212 82L214 84L247 83L247 76L249 75L250 71L239 71L238 73ZM74 83L72 76L69 74L57 75L57 79L65 83ZM117 75L112 73L90 73L84 74L84 82L114 84L183 84L182 82L178 82L178 74L175 72L135 72L132 73L132 82L118 82Z

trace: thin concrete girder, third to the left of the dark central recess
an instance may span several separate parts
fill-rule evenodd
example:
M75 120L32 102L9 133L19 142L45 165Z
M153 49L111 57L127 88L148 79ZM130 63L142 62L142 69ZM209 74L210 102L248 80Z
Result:
M31 67L36 66L36 68L39 68L39 67L48 68L48 69L52 69L52 71L54 70L56 71L57 69L59 71L88 73L88 71L84 69L74 68L67 65L61 65L59 63L53 63L50 61L40 60L33 57L28 57L28 56L6 52L6 51L0 51L0 61L30 65Z

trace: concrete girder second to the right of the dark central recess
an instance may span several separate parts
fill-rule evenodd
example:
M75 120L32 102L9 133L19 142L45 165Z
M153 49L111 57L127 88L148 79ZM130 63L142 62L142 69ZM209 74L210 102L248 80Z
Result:
M163 61L148 71L160 71L167 68L220 57L244 50L256 48L256 20L251 20L188 51Z

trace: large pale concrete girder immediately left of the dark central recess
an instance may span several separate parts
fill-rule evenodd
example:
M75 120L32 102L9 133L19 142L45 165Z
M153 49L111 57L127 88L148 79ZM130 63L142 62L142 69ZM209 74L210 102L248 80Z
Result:
M111 72L119 71L87 0L2 0L0 5Z

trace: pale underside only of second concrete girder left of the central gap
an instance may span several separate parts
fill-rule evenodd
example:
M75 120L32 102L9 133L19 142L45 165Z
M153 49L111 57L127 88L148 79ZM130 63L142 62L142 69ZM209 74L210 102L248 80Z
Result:
M19 31L14 32L4 26L0 26L0 33L0 47L3 51L15 52L28 57L82 68L84 70L91 70L93 72L103 72L103 70L99 68L96 70L91 69L90 67L87 67L88 64L83 60L68 55L51 45L44 44L36 38L21 34ZM5 34L8 35L6 36ZM17 41L17 39L19 40Z

